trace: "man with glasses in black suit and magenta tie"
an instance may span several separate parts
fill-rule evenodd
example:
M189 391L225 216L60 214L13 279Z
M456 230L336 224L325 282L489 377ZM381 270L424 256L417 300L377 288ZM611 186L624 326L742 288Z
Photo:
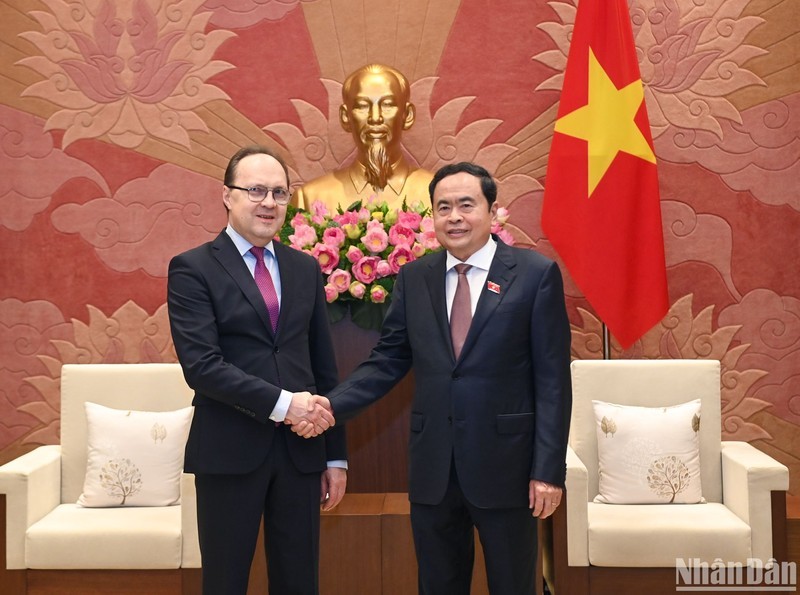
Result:
M270 593L316 595L320 502L333 508L345 490L343 429L303 440L284 425L333 425L309 403L337 382L319 266L272 241L288 188L277 155L240 150L225 172L227 228L169 266L172 337L195 390L185 469L206 595L247 592L262 515Z

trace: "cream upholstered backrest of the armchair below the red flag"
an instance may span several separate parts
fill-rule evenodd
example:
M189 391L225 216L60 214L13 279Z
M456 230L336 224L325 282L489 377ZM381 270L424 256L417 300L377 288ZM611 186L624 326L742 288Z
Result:
M716 360L572 362L569 444L586 465L589 500L598 493L597 430L592 401L659 407L700 399L700 481L709 502L722 501L720 364Z

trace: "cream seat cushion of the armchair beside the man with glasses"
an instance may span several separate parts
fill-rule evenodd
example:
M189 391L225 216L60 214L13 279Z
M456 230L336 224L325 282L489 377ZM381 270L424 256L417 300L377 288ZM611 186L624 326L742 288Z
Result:
M28 568L179 568L181 507L61 504L25 537Z

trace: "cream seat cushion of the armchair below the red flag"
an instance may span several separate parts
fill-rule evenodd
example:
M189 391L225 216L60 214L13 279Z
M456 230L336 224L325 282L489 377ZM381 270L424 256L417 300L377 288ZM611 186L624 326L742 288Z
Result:
M676 558L745 564L750 527L722 504L589 506L589 563L674 567Z

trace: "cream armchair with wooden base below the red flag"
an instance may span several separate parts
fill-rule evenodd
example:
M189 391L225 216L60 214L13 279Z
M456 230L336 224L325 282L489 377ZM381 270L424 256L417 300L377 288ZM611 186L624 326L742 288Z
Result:
M545 529L545 575L557 595L670 593L676 559L746 565L786 560L788 469L721 439L720 364L706 360L572 363L566 506ZM702 504L601 504L592 401L640 407L701 400Z

